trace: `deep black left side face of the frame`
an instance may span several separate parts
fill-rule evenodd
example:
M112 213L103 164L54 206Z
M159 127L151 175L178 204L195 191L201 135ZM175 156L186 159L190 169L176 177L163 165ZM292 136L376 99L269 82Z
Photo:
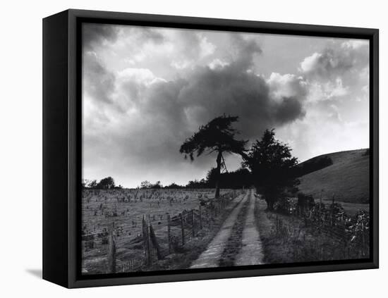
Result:
M43 19L42 278L68 286L68 11Z

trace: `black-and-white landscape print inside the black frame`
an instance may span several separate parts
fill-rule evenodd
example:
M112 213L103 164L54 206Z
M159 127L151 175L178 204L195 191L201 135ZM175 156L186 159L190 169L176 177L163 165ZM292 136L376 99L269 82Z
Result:
M363 39L83 23L83 275L370 256Z

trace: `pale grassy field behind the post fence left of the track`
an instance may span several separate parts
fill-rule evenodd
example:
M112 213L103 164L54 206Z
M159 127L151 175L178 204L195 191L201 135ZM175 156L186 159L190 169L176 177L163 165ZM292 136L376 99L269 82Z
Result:
M222 190L226 194L231 190ZM200 199L214 196L214 190L83 190L82 235L83 273L107 272L107 232L109 223L116 226L116 260L120 267L128 260L143 257L143 216L154 227L159 244L165 250L167 217L198 209ZM206 227L217 228L216 223ZM178 235L178 226L171 234ZM204 245L207 243L205 237ZM198 244L200 244L198 242ZM202 249L202 247L201 247ZM166 254L167 252L164 252Z

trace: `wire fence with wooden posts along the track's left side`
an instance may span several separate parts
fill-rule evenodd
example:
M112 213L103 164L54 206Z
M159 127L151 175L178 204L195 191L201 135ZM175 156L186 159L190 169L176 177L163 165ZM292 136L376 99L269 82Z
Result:
M205 236L227 211L227 206L242 190L229 190L219 199L200 199L197 208L157 218L143 214L141 232L128 237L126 227L134 225L115 222L110 218L108 227L83 235L84 252L99 251L99 261L89 262L87 273L118 273L146 271L154 263L174 253L183 252L186 244ZM135 252L135 253L133 253Z

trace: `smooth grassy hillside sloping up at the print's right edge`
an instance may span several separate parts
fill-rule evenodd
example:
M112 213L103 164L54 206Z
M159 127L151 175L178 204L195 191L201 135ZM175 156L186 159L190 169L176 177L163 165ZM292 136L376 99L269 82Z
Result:
M312 194L317 200L331 200L349 203L368 203L369 201L369 155L364 155L365 149L341 151L324 154L333 164L315 170L298 178L301 185L299 190L305 194ZM310 160L305 161L308 163ZM301 163L302 165L303 163Z

